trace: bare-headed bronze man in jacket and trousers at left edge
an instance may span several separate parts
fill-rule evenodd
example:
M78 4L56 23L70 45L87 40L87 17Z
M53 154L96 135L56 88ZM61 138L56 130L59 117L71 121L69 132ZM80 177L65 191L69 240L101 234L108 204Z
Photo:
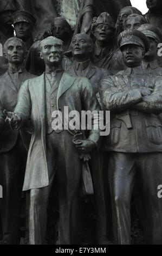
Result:
M21 39L8 39L3 50L9 68L0 77L0 102L3 109L14 111L22 82L34 76L24 69L27 49ZM4 198L0 200L3 228L3 240L0 244L16 244L18 243L19 200L17 179L23 173L27 153L22 142L22 131L13 131L4 120L5 118L1 113L0 180L3 186Z

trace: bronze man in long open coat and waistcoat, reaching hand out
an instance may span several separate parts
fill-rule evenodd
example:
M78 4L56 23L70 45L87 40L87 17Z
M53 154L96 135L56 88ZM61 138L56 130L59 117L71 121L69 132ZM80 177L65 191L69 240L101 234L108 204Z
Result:
M20 129L30 118L33 134L29 147L23 190L30 190L29 242L43 244L46 235L47 205L51 186L57 179L59 190L59 243L78 244L80 240L80 185L83 160L98 147L100 132L54 129L54 111L60 111L67 123L64 106L81 113L98 111L93 88L86 78L68 75L62 70L63 43L53 36L41 41L41 58L46 72L26 81L20 90L15 113L7 121ZM94 119L92 120L94 124ZM79 145L74 136L80 135ZM77 137L78 138L78 137ZM85 155L85 157L84 157ZM39 220L39 221L38 221Z

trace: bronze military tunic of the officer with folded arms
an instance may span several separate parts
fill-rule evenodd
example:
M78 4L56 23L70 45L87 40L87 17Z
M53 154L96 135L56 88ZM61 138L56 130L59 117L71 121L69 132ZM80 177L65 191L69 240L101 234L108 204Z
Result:
M121 74L121 75L120 75ZM141 67L126 69L116 76L103 78L100 98L111 111L111 133L106 150L124 153L162 152L162 78L144 74ZM140 89L153 89L142 96Z

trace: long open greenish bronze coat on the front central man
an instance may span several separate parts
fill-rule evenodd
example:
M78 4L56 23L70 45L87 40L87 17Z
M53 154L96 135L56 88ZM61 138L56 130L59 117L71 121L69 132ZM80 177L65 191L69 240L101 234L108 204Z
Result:
M20 89L15 113L21 115L22 126L31 117L33 134L31 137L23 190L49 185L46 158L46 95L45 75L25 81ZM64 106L70 111L99 110L93 88L86 78L73 77L63 73L57 94L57 109L64 114ZM76 131L71 131L76 134ZM99 130L91 130L88 139L99 143ZM72 137L73 138L73 137ZM72 161L71 159L69 161Z

